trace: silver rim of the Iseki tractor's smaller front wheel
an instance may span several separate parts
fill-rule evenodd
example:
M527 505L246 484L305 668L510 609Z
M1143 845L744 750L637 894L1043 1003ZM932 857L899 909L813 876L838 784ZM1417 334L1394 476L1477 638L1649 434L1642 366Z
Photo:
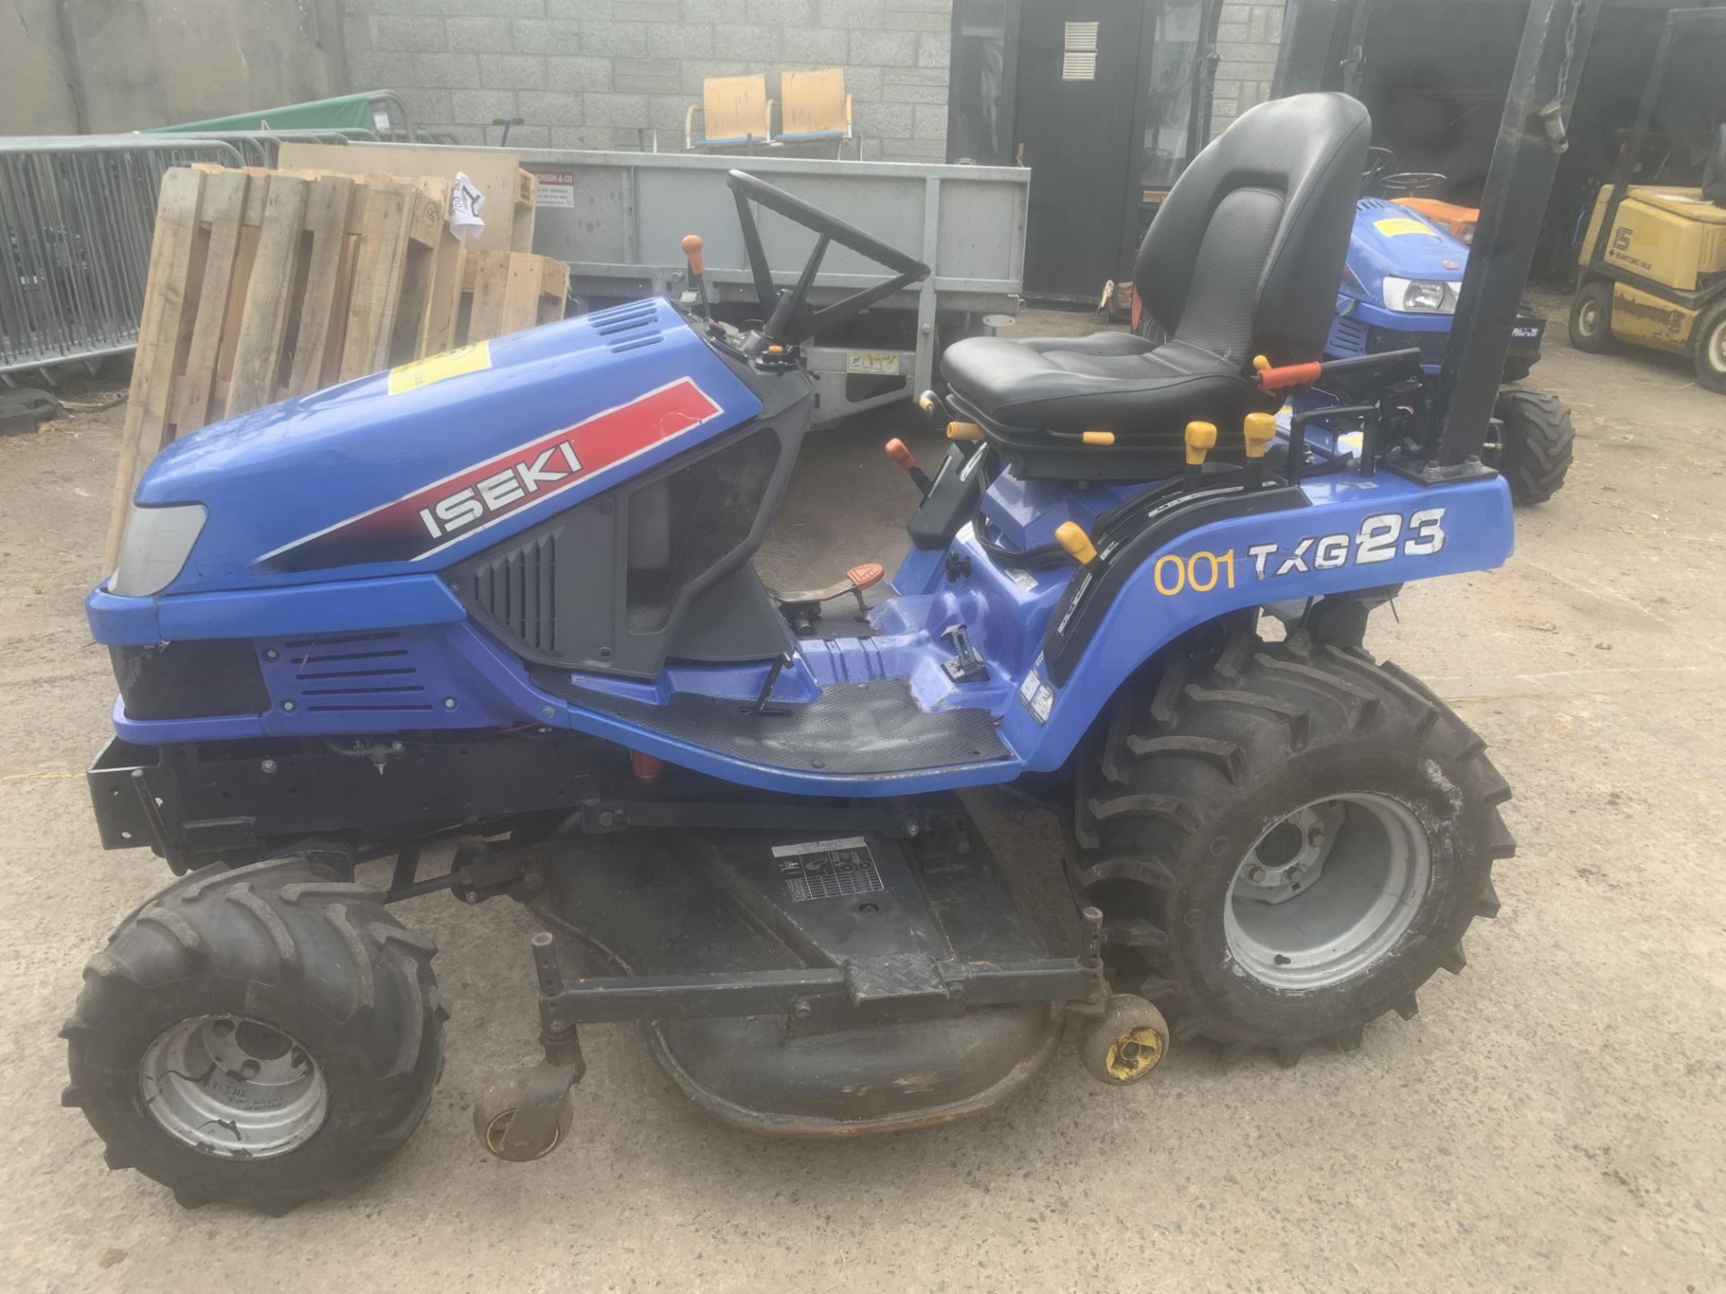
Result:
M247 1016L193 1016L162 1030L138 1063L138 1085L171 1137L224 1159L287 1154L330 1113L311 1052Z

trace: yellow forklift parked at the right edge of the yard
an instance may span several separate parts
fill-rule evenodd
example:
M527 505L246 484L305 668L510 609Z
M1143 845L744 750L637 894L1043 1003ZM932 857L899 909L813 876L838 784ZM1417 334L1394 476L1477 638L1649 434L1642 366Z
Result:
M1698 188L1626 183L1674 47L1707 36L1726 36L1726 9L1667 14L1636 129L1583 236L1571 345L1690 355L1697 381L1726 395L1726 124L1716 126Z

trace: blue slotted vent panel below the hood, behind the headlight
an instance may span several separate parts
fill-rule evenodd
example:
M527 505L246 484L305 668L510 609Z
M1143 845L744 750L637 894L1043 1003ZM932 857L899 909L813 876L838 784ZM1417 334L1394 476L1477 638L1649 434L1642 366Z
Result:
M413 714L435 707L411 640L394 630L261 640L257 649L281 709Z

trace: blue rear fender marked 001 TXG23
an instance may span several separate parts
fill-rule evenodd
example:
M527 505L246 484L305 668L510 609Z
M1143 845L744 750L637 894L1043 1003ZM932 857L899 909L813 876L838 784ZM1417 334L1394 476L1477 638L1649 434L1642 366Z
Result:
M1115 692L1206 621L1272 602L1483 571L1502 566L1514 547L1510 492L1496 476L1422 487L1389 473L1339 474L1303 490L1310 507L1208 521L1144 554L1061 682L1048 650L1032 663L1001 719L1029 769L1060 768ZM1065 609L1056 611L1055 628Z

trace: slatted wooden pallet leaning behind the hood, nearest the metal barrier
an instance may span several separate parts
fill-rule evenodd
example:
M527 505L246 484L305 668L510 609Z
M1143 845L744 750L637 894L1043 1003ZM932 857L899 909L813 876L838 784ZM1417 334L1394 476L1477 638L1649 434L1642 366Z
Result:
M162 178L104 569L138 478L207 423L454 343L459 243L419 186L185 167Z

